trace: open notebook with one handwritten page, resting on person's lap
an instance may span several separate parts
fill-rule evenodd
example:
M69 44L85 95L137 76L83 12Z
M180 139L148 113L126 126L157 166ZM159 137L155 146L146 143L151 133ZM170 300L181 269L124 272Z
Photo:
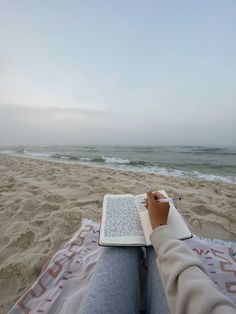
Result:
M159 191L168 197L165 191ZM100 226L99 244L103 246L148 246L151 245L148 210L143 202L147 194L106 194ZM190 230L174 204L170 202L168 225L177 239L192 237Z

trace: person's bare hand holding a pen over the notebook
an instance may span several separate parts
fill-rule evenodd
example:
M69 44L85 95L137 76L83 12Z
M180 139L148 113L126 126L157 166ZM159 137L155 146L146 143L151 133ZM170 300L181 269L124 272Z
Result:
M147 206L149 219L151 222L151 226L153 229L160 225L167 224L167 218L169 214L170 205L169 203L159 203L157 202L158 199L165 198L159 192L148 192L147 193Z

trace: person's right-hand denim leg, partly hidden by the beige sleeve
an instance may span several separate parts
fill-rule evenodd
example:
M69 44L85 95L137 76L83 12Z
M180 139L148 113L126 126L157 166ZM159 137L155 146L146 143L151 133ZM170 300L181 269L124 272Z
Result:
M162 287L159 270L156 264L156 253L153 247L147 248L147 295L146 309L148 314L169 314L165 292Z

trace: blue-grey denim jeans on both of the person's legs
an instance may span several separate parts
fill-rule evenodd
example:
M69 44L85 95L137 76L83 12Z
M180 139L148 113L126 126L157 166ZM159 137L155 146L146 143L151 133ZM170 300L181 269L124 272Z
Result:
M146 313L169 313L155 261L156 253L152 247L146 251L137 247L109 247L102 250L79 313L140 313L141 287L145 293ZM143 252L147 262L145 276L143 272L141 274Z

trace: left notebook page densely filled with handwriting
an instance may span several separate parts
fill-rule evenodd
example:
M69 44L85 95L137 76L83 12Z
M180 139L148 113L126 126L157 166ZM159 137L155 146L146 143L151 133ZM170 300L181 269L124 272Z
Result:
M105 195L101 244L145 244L137 204L133 195Z

